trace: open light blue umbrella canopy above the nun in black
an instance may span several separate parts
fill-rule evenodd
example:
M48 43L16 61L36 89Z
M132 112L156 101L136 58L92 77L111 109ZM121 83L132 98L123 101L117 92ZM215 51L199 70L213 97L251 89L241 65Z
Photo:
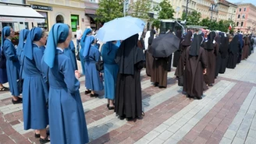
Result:
M98 30L96 37L102 42L112 40L126 40L126 38L140 33L144 30L145 23L143 20L126 16L122 18L116 18Z

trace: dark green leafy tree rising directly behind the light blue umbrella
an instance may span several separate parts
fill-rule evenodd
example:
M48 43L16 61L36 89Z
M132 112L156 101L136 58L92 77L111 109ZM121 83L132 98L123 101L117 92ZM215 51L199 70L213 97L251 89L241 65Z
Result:
M96 10L96 21L108 22L123 16L123 0L101 0Z

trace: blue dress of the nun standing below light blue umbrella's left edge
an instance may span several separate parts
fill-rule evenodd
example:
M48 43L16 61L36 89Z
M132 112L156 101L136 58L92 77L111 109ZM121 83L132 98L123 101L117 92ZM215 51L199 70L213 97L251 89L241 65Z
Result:
M99 76L99 72L96 69L95 63L100 61L101 53L98 51L98 47L91 45L89 54L85 60L85 86L87 90L101 91L103 90L102 78Z

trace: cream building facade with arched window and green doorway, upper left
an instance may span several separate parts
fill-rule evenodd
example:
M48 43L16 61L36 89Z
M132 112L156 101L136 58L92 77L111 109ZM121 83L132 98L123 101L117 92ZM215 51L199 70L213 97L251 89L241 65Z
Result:
M27 0L33 9L45 17L44 23L34 23L34 26L50 30L55 23L68 24L76 37L76 26L79 25L81 30L90 26L90 18L85 16L84 1L76 0Z

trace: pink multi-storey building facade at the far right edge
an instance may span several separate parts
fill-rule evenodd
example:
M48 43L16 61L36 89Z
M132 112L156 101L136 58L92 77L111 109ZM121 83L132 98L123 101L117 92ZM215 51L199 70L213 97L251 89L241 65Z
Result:
M256 6L251 3L237 4L235 30L245 34L255 33Z

